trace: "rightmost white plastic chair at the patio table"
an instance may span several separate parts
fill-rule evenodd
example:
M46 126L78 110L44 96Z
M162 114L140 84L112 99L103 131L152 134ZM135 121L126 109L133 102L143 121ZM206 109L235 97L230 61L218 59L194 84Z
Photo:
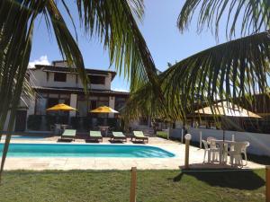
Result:
M242 149L244 146L246 147L246 143L244 142L234 143L234 150L229 151L229 159L231 165L243 166Z

